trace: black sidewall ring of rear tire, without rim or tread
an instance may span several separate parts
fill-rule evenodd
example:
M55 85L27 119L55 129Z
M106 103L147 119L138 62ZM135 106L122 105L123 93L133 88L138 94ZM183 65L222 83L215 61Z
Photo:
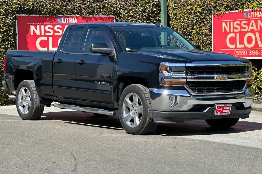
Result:
M31 96L31 107L29 109L29 112L27 114L23 114L21 113L20 109L19 109L19 106L18 106L18 94L19 94L19 91L22 87L26 87L29 92L30 92L30 96ZM24 120L29 120L30 117L32 116L33 112L34 112L34 104L35 104L35 97L33 96L34 93L33 93L33 89L32 89L32 86L26 81L22 81L18 88L17 88L17 95L16 95L16 100L15 100L15 104L16 104L16 107L17 107L17 112L19 114L19 116L24 119Z

